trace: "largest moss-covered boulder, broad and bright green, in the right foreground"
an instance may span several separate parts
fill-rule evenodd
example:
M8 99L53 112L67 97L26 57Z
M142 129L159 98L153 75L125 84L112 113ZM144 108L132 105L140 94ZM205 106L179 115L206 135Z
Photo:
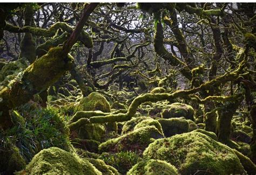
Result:
M144 151L145 158L165 160L180 174L242 174L244 167L233 149L199 132L157 139Z

